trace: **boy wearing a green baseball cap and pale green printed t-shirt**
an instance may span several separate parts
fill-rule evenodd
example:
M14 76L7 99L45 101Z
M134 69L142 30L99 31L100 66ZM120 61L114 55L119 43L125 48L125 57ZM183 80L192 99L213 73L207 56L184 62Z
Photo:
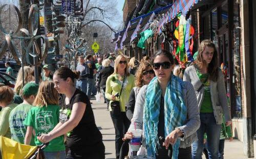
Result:
M23 121L26 119L30 109L33 107L32 103L35 100L38 87L39 86L33 82L27 83L20 92L24 99L23 103L17 105L17 107L11 111L9 116L12 135L11 138L21 144L24 144L27 131L27 126L24 125ZM35 146L34 136L32 137L30 145Z

